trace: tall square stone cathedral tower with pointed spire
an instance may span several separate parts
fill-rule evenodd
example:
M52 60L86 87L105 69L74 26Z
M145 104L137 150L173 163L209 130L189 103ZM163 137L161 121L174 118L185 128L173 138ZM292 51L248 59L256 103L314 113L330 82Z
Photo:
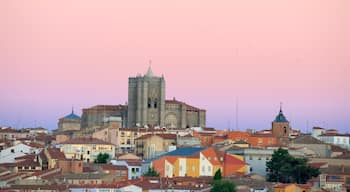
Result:
M128 127L164 126L165 80L153 75L151 67L144 76L129 77Z

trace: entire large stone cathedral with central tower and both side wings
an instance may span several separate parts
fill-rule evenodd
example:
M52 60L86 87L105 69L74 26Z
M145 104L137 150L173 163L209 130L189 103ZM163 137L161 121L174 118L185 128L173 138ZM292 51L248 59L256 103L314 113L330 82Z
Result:
M107 126L115 118L122 120L122 127L205 127L206 111L175 98L166 100L165 87L164 77L153 75L149 67L145 75L129 77L128 104L83 109L81 128Z

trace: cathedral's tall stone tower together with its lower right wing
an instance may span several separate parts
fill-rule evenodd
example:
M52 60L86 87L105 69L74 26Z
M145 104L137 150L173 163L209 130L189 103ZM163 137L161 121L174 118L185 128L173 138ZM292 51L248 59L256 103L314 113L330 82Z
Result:
M129 77L128 127L204 127L206 111L184 102L165 100L165 79L153 75Z

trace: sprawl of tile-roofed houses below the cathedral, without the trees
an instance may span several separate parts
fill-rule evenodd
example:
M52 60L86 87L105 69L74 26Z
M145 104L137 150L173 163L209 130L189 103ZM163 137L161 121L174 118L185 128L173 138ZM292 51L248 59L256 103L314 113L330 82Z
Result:
M262 131L122 128L118 121L54 134L1 127L0 190L210 191L218 170L239 191L350 190L350 135L320 127L303 134L281 113ZM280 147L307 157L321 174L308 184L266 182L266 162ZM96 163L99 154L108 154L106 164ZM149 168L160 176L143 176Z

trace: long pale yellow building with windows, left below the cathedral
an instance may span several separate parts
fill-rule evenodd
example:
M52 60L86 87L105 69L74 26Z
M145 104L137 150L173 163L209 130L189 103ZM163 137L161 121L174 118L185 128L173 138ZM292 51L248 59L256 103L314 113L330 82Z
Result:
M95 138L74 138L61 143L61 151L67 159L78 159L93 162L100 153L115 157L115 146Z

